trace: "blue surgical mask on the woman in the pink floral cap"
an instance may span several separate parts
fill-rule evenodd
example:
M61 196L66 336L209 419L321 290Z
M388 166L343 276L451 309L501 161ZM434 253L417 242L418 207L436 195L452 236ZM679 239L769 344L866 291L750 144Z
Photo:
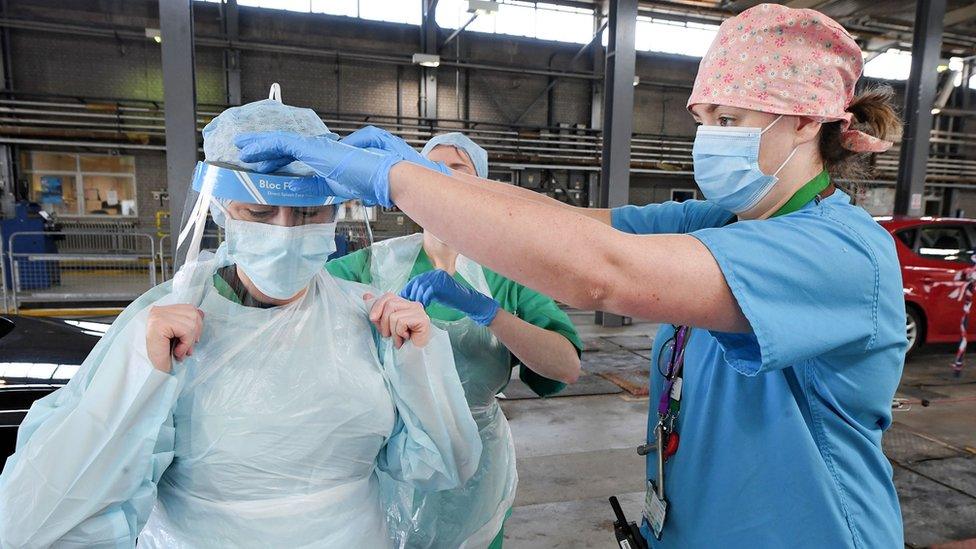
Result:
M759 143L782 115L765 128L699 126L691 156L695 181L709 202L734 213L746 212L776 184L776 176L796 154L796 147L773 175L759 169Z

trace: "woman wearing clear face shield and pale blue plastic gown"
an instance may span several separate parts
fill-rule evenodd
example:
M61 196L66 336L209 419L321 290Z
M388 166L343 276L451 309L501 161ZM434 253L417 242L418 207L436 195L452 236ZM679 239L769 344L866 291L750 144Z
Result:
M233 139L335 139L267 100L204 129L174 280L34 403L0 474L0 547L383 547L378 474L454 488L481 442L423 308L324 270L335 197L309 169L248 173ZM197 255L208 206L226 242Z

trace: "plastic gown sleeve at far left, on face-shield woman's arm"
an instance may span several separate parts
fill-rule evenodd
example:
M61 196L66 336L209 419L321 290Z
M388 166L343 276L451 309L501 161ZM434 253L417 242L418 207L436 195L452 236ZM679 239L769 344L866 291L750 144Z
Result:
M0 547L132 547L173 458L177 379L152 367L133 302L64 388L38 400L0 474Z

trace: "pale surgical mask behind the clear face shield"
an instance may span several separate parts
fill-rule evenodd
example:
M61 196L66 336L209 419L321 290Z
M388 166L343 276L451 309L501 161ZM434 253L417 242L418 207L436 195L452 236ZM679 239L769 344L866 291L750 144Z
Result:
M308 287L336 250L336 223L282 227L230 216L227 254L261 293L288 299Z

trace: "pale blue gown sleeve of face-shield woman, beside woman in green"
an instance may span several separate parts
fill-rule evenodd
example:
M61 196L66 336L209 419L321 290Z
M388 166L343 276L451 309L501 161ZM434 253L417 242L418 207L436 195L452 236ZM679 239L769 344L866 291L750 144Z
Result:
M448 490L478 469L481 437L464 398L447 332L433 328L423 348L381 342L383 369L397 410L377 467L420 490Z

